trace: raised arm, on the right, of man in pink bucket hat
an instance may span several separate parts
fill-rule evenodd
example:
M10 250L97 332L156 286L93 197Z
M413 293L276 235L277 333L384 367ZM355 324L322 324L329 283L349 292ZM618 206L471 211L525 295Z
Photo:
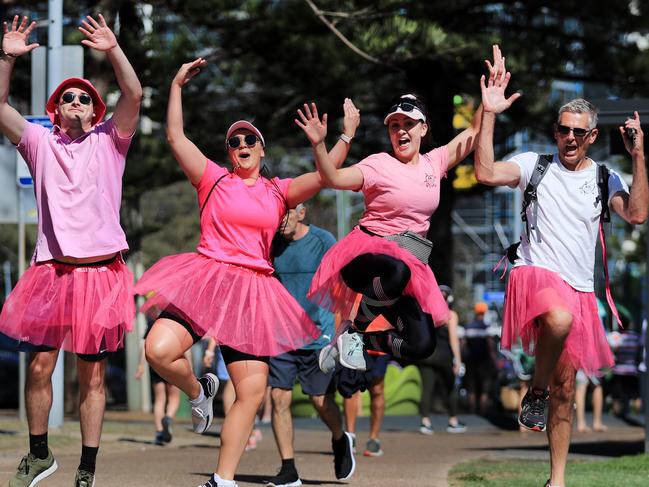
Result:
M121 137L130 137L137 128L142 101L142 86L126 54L117 43L117 38L106 25L104 16L99 14L99 22L91 16L81 22L79 30L86 39L81 43L97 51L106 53L115 71L115 78L120 89L120 97L113 113L113 123Z

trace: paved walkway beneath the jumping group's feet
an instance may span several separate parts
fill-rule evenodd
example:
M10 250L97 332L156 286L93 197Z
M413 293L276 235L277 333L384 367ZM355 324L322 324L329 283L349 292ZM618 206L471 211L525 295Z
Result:
M476 416L462 418L469 426L464 434L444 432L444 417L434 418L439 431L432 436L418 433L418 418L386 418L381 437L385 454L379 458L362 456L367 440L366 418L359 418L357 470L352 486L422 486L446 487L449 470L457 463L479 457L547 459L545 436L521 434L503 428L515 426L511 418L500 418L497 425ZM615 418L606 418L606 433L575 435L571 458L597 458L639 453L644 446L644 429ZM296 421L296 465L305 485L344 485L333 475L330 436L318 420ZM130 413L109 413L98 460L97 487L196 486L215 468L218 453L217 423L208 435L188 431L187 424L176 427L173 442L165 447L152 444L150 426L145 417ZM280 465L272 431L262 427L263 441L247 452L239 466L240 487L265 485ZM66 423L62 431L51 432L51 444L60 465L59 471L44 487L69 487L79 457L78 425ZM24 429L11 418L0 417L0 485L6 485L27 437ZM545 479L539 479L542 485ZM535 486L530 486L535 487Z

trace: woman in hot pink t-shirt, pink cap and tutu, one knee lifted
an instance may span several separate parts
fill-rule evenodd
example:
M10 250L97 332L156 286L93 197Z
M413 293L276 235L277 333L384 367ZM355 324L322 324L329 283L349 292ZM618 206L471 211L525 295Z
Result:
M167 138L174 156L198 193L201 238L195 253L165 257L136 285L149 297L143 310L157 317L145 351L155 371L191 398L194 430L212 422L218 389L214 374L197 380L184 357L202 336L214 337L232 379L236 400L221 429L221 449L214 476L204 486L234 485L254 418L264 398L269 356L313 341L319 330L307 313L273 276L271 243L289 208L314 196L322 187L317 172L295 179L269 179L262 174L265 141L250 122L230 126L226 149L232 171L216 165L186 136L182 87L205 66L199 58L184 64L171 84ZM358 110L345 105L345 130L353 137ZM348 143L331 151L338 166Z

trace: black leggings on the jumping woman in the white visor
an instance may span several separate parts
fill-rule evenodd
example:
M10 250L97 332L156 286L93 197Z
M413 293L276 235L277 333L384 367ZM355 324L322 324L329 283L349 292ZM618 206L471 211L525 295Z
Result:
M340 271L345 284L363 295L354 319L363 332L379 314L395 330L364 333L365 347L395 357L417 360L435 351L432 317L411 296L403 296L410 269L402 261L383 254L362 254Z

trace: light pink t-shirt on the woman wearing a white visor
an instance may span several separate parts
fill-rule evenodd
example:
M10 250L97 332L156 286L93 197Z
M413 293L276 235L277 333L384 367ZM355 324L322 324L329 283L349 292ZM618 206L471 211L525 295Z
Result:
M379 235L406 230L426 235L429 218L439 206L440 180L448 169L447 146L421 154L415 165L381 152L356 167L363 173L365 196L360 225Z

